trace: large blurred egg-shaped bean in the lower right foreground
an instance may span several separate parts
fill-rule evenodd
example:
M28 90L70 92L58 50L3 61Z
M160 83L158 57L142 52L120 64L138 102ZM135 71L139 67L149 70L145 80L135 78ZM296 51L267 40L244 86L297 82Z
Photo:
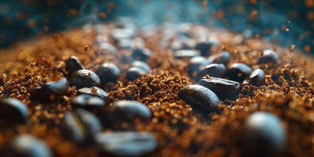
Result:
M285 141L286 131L277 116L255 112L244 123L241 153L244 156L279 156Z

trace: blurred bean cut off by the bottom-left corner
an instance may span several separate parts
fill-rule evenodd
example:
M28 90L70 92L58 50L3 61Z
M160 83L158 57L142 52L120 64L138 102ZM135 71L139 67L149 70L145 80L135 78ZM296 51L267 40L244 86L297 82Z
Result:
M42 139L30 134L21 134L3 149L3 157L51 157L52 150Z

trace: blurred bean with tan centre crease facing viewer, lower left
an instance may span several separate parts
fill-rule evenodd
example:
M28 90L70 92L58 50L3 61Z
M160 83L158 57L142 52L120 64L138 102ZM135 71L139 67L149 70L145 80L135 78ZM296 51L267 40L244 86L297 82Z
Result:
M60 120L60 130L65 138L84 144L93 140L93 136L100 132L99 119L92 112L82 108L74 112L65 112Z

